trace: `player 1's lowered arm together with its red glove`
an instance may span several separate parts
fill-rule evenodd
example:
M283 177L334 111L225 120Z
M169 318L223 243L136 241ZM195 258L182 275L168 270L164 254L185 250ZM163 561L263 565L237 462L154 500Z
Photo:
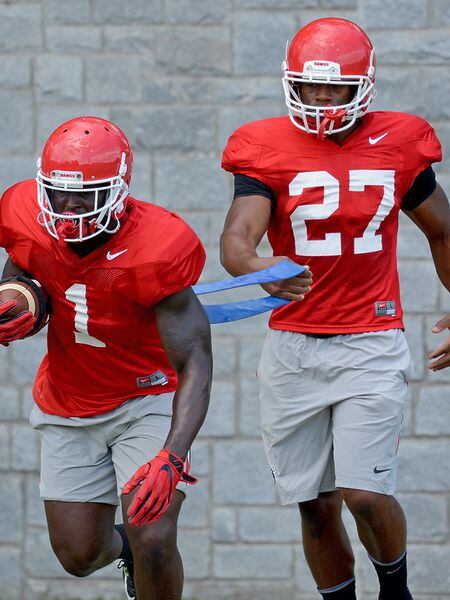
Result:
M183 472L183 461L205 419L211 389L210 326L192 289L168 296L153 310L162 345L178 375L178 388L163 449L123 488L123 494L129 494L140 485L127 510L131 525L158 521L169 508L180 479L196 483Z

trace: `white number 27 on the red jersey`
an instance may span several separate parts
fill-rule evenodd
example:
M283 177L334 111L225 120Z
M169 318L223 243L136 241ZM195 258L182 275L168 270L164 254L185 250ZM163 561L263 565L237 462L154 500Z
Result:
M372 185L383 188L383 197L362 236L354 239L355 254L379 252L383 249L382 236L377 231L395 203L395 171L350 171L351 192L363 192ZM295 253L299 256L340 256L342 247L339 232L326 233L323 240L309 240L306 230L306 221L328 219L339 208L339 181L336 177L327 171L298 173L289 184L289 195L300 196L305 189L317 187L323 188L323 204L301 204L291 214Z

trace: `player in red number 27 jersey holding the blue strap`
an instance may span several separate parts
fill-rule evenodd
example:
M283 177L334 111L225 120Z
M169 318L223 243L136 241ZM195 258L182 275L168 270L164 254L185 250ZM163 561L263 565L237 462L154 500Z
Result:
M258 378L266 454L283 504L298 503L306 559L328 600L354 600L345 501L377 571L382 600L412 596L406 525L393 496L410 371L396 243L401 210L430 243L450 289L450 210L432 163L431 126L369 112L375 54L365 32L337 18L291 42L283 86L289 118L248 123L223 168L235 195L221 239L233 275L288 257L302 276L264 286L295 302L270 318ZM257 254L268 232L273 257ZM420 273L418 273L420 277ZM450 327L450 315L436 331ZM450 365L450 338L430 358Z

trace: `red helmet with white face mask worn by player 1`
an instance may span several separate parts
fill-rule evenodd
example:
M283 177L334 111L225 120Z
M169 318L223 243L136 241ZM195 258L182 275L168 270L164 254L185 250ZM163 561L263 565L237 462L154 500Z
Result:
M63 123L45 142L37 166L39 222L51 236L83 242L103 231L119 229L133 154L116 125L99 117L77 117ZM81 215L58 213L51 202L53 190L95 192L93 209ZM103 190L106 197L99 202Z

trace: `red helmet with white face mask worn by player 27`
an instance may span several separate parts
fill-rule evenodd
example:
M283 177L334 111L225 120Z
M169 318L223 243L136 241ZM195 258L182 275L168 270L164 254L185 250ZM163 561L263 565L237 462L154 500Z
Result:
M367 34L346 19L317 19L302 27L283 62L283 88L293 124L323 138L351 127L375 98L375 52ZM301 83L355 86L340 106L311 106L300 95Z

